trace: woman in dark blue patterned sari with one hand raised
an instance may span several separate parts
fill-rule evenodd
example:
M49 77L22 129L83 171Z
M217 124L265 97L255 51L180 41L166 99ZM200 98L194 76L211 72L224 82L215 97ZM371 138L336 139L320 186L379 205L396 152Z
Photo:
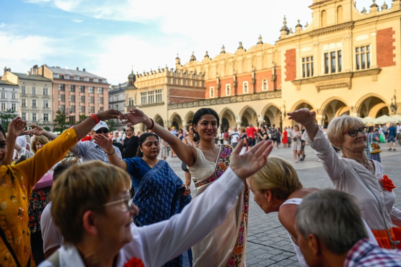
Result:
M94 138L95 143L105 150L110 163L131 175L135 189L133 203L141 210L134 216L137 226L167 220L191 202L190 188L183 184L166 161L157 158L160 145L159 137L154 133L142 134L137 156L123 160L116 156L110 140L100 135ZM191 249L164 266L192 266Z

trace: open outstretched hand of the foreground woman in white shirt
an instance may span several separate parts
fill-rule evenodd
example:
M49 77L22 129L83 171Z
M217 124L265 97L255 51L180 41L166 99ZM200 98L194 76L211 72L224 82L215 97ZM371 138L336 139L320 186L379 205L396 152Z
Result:
M241 139L232 151L230 156L230 167L242 180L262 168L267 161L267 156L273 149L271 140L260 141L256 146L249 149L245 154L240 155L244 146L244 140Z

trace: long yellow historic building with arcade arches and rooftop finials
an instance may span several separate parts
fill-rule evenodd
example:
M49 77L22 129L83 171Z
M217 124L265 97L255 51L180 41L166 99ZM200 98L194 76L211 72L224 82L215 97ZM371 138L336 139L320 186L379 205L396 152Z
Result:
M400 114L401 3L373 1L362 11L355 3L311 0L312 21L292 30L284 17L274 45L259 37L248 49L240 42L213 59L206 52L181 65L177 57L175 69L132 74L126 108L179 128L203 107L216 110L223 128L290 126L286 113L303 107L316 111L322 125L342 114Z

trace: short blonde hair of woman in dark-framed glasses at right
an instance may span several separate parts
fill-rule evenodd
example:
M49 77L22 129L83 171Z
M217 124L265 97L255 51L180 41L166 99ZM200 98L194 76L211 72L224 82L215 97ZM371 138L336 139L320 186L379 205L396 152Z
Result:
M327 139L333 146L339 148L344 142L344 134L351 129L363 127L363 121L359 118L351 117L348 115L342 115L332 119L327 127Z

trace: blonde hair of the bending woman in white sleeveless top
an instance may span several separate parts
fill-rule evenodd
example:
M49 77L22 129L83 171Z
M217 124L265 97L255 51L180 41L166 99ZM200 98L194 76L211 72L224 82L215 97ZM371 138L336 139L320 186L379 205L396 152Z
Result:
M265 166L247 179L248 185L250 180L253 188L271 190L280 200L287 199L292 192L302 188L294 167L279 156L269 156Z

